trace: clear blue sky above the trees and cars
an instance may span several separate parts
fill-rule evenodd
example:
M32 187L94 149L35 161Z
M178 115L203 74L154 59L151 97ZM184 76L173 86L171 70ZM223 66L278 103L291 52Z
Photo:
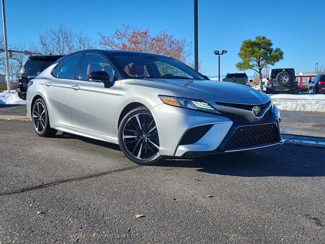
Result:
M283 50L275 67L314 71L315 63L325 64L324 9L323 0L199 0L199 59L205 74L217 75L213 51L222 49L228 53L221 56L221 74L236 72L242 41L257 35ZM193 0L6 0L6 17L9 45L38 42L39 33L60 23L94 39L129 24L153 34L166 29L193 42Z

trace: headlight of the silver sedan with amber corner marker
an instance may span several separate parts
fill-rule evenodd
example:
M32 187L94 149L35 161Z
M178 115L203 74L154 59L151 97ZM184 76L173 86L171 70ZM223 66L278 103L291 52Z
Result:
M214 107L212 107L210 104L203 100L192 100L188 98L176 98L161 95L159 95L158 97L161 101L163 101L163 103L171 106L194 110L203 110L212 113L220 113L218 110L216 110Z

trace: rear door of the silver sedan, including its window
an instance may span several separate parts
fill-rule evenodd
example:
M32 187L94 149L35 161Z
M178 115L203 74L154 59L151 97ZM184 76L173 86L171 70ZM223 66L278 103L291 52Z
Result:
M62 60L52 72L52 78L45 80L45 95L52 123L72 126L70 111L70 90L76 78L82 53L70 55Z

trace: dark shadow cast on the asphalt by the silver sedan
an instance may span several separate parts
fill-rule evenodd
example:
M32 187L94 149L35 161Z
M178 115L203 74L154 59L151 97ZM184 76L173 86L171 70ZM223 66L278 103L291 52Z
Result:
M55 138L78 139L86 143L120 150L119 145L66 132L56 135ZM199 172L241 177L315 177L325 176L323 156L323 148L284 144L202 158L168 158L148 166L197 168Z

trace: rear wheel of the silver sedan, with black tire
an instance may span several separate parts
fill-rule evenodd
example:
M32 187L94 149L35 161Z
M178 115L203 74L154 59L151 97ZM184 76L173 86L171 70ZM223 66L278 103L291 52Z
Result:
M38 136L51 137L54 136L57 130L50 127L48 110L43 98L35 101L31 111L32 124Z

